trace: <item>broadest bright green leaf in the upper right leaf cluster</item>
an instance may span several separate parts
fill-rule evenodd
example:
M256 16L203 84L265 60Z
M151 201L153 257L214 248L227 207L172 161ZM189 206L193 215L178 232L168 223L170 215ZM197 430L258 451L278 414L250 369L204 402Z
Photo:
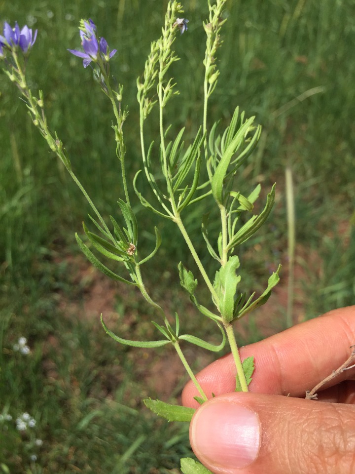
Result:
M224 151L222 158L220 159L218 166L214 172L211 183L212 193L214 199L218 204L223 204L223 180L227 174L228 166L236 149L240 146L241 141L244 140L244 137L253 121L254 117L251 117L241 126L241 128L233 137L231 143L228 145L227 149Z

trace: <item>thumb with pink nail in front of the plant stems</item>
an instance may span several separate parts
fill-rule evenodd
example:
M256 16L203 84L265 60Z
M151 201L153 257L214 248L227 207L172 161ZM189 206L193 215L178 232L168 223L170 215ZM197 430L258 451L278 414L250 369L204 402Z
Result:
M194 414L190 442L214 474L354 474L355 405L220 395Z

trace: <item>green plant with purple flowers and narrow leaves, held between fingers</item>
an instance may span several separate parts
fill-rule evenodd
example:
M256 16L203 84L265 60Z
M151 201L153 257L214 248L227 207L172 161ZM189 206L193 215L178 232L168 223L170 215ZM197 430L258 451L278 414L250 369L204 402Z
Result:
M217 49L221 44L220 31L225 20L223 7L226 0L216 0L214 4L208 0L209 18L203 27L206 32L206 53L203 60L204 74L204 107L201 125L191 143L184 141L184 127L176 136L172 136L167 111L170 100L179 91L177 84L170 75L172 64L178 61L173 46L177 40L183 40L181 35L186 33L188 20L183 18L181 4L172 0L168 3L161 37L150 45L150 52L145 62L142 77L137 79L137 99L140 108L140 141L142 151L142 170L139 171L131 186L128 185L125 173L126 147L124 141L124 122L127 119L127 109L123 104L123 86L112 85L110 60L117 52L110 50L107 41L100 37L94 22L81 20L79 34L82 50L69 49L69 52L83 59L83 66L90 68L101 90L109 99L114 116L112 125L116 155L120 163L122 193L118 199L120 217L110 216L107 224L95 204L85 191L74 173L67 150L56 133L50 131L44 110L43 92L35 95L26 81L25 64L28 54L36 41L37 31L32 32L27 26L21 30L17 23L14 28L4 24L3 35L0 36L0 58L4 65L4 72L14 82L26 101L30 117L38 128L49 148L62 160L72 179L78 185L88 200L93 215L89 215L95 232L83 224L86 242L77 234L76 240L80 249L90 262L108 277L137 286L145 300L156 310L157 321L154 326L160 334L155 341L134 341L124 338L122 334L114 334L107 328L103 317L101 321L106 333L121 344L141 348L157 348L172 344L178 353L187 373L191 377L199 396L196 399L203 403L208 396L198 383L180 347L181 341L195 344L213 352L223 349L228 340L236 366L236 390L248 391L248 385L253 371L253 360L249 358L243 363L240 359L236 339L233 331L233 322L240 319L253 309L263 305L270 296L272 288L279 281L279 270L273 273L267 283L265 291L257 298L255 293L247 296L241 292L238 285L241 276L238 275L240 266L236 255L237 248L245 243L265 222L272 209L275 198L275 186L269 192L264 209L259 215L254 215L253 204L259 196L260 186L250 189L248 196L243 196L235 189L234 178L239 168L249 158L260 137L260 126L254 124L254 117L246 118L244 112L235 109L232 119L224 130L219 130L218 121L212 127L208 126L209 98L216 87L219 71L216 64ZM177 33L180 35L177 36ZM116 83L116 82L114 82ZM159 116L159 136L152 141L145 135L145 123L150 113L156 108ZM202 179L201 169L206 167L205 181ZM142 172L143 171L143 172ZM164 185L156 179L157 174L164 176ZM140 180L145 176L155 196L155 202L150 202L140 192ZM191 302L202 317L212 319L216 329L221 334L221 342L213 345L208 341L192 334L184 334L180 329L178 312L175 322L165 314L162 307L152 300L145 287L141 268L157 253L162 238L155 227L155 248L148 255L141 255L139 248L139 228L135 213L131 207L131 194L135 193L142 206L153 213L173 221L181 233L196 265L199 277L196 278L183 264L178 264L178 275L181 286L187 292ZM201 215L202 234L211 258L216 260L219 269L214 279L205 270L198 256L193 241L185 226L184 215L189 206L205 200L213 199L220 215L220 231L213 241L208 233L208 216ZM244 225L240 225L241 215L248 216ZM95 252L95 253L94 253ZM111 270L98 258L98 254L115 262ZM211 304L204 306L198 299L198 285L207 286L211 293ZM169 405L158 400L145 400L146 405L155 413L168 420L189 421L194 412L191 408ZM203 472L201 465L185 459L181 462L183 473ZM206 471L207 472L207 471Z

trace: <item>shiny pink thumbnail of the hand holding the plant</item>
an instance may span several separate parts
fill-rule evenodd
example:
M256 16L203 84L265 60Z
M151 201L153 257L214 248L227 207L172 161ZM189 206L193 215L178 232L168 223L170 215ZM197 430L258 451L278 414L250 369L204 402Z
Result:
M256 413L244 406L213 400L194 415L190 441L205 464L231 469L249 466L260 448L260 423Z

